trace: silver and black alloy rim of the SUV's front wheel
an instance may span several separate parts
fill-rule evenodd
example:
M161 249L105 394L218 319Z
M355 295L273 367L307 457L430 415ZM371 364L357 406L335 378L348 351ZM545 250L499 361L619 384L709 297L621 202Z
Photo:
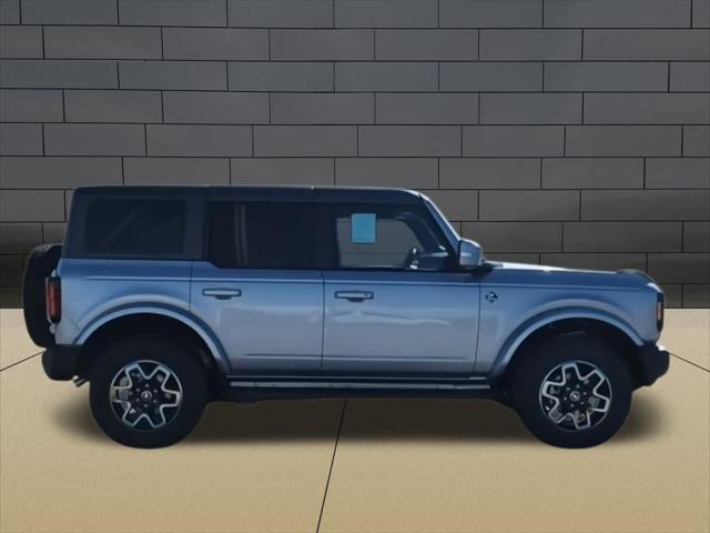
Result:
M558 426L588 430L599 424L611 408L609 378L587 361L558 364L542 380L540 409Z

